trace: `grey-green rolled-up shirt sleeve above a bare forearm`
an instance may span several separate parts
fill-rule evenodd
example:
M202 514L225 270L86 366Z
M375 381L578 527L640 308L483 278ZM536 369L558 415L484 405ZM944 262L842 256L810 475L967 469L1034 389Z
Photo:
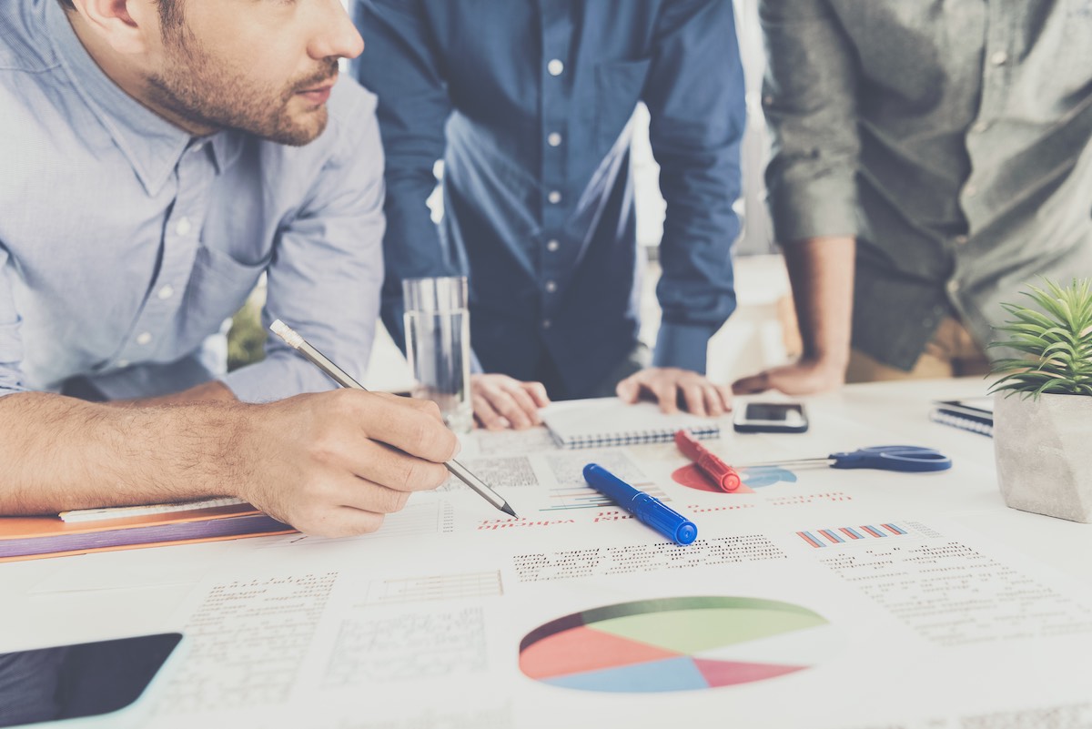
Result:
M772 134L767 188L781 243L857 235L857 63L828 0L762 0Z

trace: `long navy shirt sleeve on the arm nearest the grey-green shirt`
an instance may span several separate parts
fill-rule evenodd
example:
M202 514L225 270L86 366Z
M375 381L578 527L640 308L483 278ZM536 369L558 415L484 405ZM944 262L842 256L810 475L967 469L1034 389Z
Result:
M666 7L642 96L667 203L654 363L704 372L709 337L736 306L733 204L746 107L731 2Z

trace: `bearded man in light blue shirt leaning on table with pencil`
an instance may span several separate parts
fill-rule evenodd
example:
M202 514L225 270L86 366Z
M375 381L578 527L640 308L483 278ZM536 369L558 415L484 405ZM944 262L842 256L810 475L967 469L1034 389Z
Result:
M205 344L264 273L265 324L367 364L382 156L334 85L341 5L26 0L0 28L0 513L232 494L355 534L442 482L430 404Z

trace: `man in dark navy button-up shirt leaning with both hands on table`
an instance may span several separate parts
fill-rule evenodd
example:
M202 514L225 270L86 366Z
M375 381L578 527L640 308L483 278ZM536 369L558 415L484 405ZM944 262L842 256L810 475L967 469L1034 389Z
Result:
M358 77L387 155L383 321L402 279L467 275L474 411L655 396L720 415L709 337L735 308L744 81L727 0L360 0ZM631 118L651 115L667 202L651 367L638 339ZM443 159L443 219L426 200ZM642 361L644 360L644 361Z

